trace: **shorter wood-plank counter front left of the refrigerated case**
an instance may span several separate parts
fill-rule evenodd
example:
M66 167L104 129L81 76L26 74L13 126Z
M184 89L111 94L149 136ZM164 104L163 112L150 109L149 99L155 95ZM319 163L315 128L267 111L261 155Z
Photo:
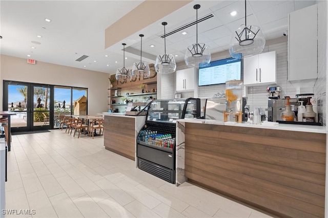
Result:
M135 119L105 116L105 148L135 160Z

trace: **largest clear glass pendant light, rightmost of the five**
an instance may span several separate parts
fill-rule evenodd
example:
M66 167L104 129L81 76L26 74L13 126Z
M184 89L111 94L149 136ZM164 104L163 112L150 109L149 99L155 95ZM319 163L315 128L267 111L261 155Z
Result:
M256 25L247 26L245 0L245 25L239 27L231 37L229 52L233 58L243 58L260 54L265 46L262 31Z

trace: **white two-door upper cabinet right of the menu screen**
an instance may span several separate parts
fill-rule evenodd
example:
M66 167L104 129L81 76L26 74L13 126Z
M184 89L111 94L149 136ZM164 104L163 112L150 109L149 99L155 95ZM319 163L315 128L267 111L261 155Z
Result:
M277 83L276 51L244 58L244 85Z

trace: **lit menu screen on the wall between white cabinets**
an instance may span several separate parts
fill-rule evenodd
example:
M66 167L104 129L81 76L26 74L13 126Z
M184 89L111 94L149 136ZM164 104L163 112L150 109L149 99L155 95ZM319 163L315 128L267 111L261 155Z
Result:
M228 80L241 79L241 59L226 58L211 61L205 66L199 66L198 86L224 84Z

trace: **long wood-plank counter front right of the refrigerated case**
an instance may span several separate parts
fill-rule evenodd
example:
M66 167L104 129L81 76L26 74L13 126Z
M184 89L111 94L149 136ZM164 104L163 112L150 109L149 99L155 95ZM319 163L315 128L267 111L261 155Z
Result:
M324 217L325 134L186 123L185 175L282 217Z

